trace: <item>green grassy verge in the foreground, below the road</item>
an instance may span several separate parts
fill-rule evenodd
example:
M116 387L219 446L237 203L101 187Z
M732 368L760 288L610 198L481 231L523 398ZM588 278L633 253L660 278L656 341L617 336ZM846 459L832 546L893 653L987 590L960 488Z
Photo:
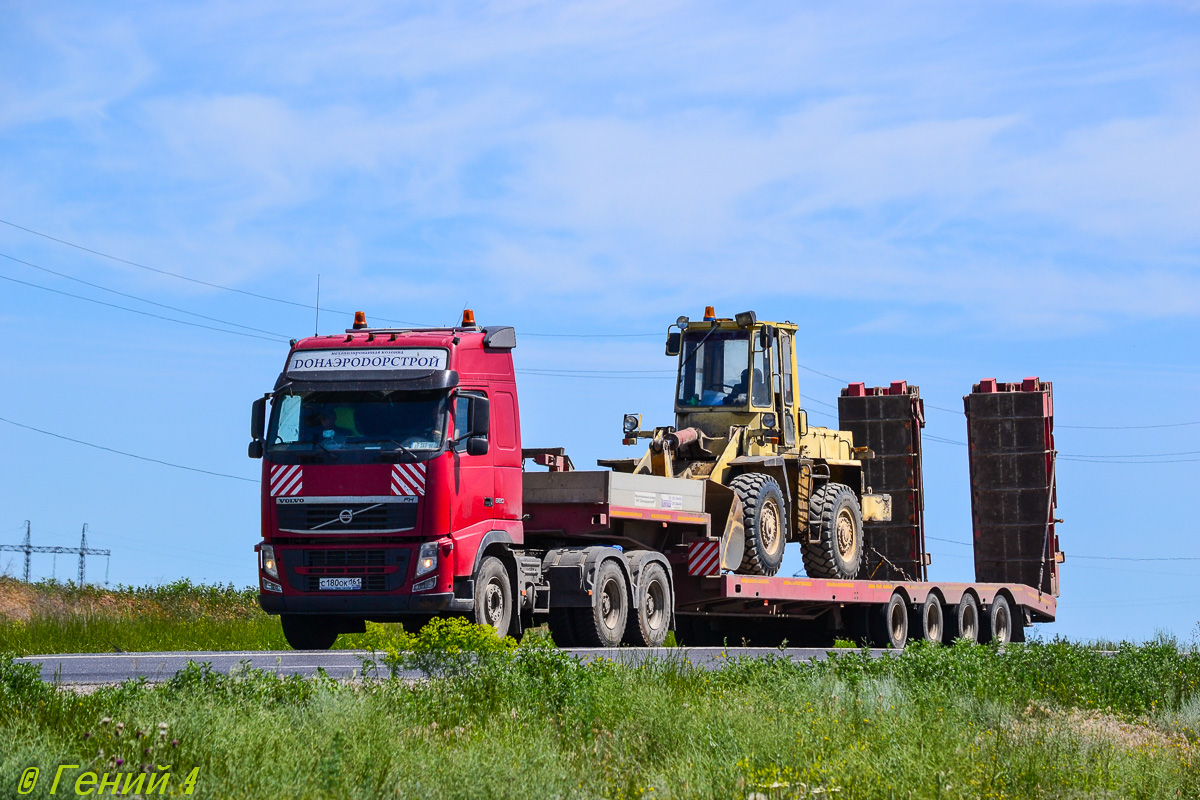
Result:
M77 696L0 662L0 787L68 763L198 769L193 796L272 800L1200 798L1200 654L1166 640L709 672L583 664L457 620L367 636L382 678L360 684L191 667ZM413 667L431 676L388 678Z

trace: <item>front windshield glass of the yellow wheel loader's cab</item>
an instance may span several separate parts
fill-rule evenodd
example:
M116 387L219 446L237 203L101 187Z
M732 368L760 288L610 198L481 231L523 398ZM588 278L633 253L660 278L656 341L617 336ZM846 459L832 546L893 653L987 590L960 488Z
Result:
M679 405L746 405L749 362L746 331L684 333ZM761 375L756 378L762 383Z

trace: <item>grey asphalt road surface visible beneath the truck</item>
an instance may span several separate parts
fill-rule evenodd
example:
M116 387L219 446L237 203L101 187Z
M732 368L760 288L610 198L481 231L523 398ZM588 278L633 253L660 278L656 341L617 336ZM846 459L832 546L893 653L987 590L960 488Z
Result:
M611 658L625 663L640 663L646 658L684 658L698 667L716 669L736 656L782 655L792 661L824 658L829 650L820 648L610 648L600 650L568 650L584 661ZM882 650L872 651L878 655ZM364 650L276 650L244 652L79 652L17 658L18 663L40 663L42 680L79 686L119 684L134 678L158 682L173 676L188 661L209 663L211 668L228 673L241 663L254 669L265 669L278 675L316 675L324 669L331 678L352 679L362 674ZM418 676L413 673L412 676Z

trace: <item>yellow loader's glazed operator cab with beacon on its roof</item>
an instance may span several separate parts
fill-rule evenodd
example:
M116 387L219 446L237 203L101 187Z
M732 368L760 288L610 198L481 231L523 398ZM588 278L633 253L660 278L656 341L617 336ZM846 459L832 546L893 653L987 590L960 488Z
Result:
M712 308L708 309L712 312ZM791 323L758 321L754 312L734 319L712 313L677 320L667 355L679 359L676 428L694 427L725 438L745 426L794 446L799 419L794 333Z

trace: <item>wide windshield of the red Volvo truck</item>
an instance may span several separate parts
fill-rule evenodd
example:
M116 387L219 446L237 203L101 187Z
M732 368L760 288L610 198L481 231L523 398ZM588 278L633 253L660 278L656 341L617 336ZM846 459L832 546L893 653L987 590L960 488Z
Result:
M446 392L281 395L266 446L280 452L396 453L419 459L442 450Z

